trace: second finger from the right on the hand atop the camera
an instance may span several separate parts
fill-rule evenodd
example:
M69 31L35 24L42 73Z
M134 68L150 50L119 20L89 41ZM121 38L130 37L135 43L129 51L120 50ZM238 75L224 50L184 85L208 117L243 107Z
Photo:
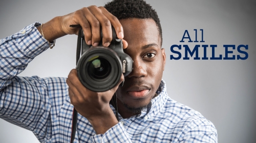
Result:
M102 14L98 7L90 7L89 10L100 22L103 35L102 45L108 47L112 41L112 28L110 20L106 18L104 14Z

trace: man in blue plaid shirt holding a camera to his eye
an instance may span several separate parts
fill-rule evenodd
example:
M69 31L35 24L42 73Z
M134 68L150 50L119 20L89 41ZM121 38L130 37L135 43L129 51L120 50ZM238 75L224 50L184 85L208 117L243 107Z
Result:
M123 87L92 92L80 83L75 69L67 79L16 76L55 39L77 34L78 28L70 27L74 24L82 26L87 44L93 46L100 41L101 26L106 47L114 26L134 61ZM161 80L161 45L159 18L144 1L113 1L29 25L0 41L0 116L33 131L40 142L70 141L73 107L79 113L74 142L217 142L211 122L168 97ZM115 93L116 108L110 105Z

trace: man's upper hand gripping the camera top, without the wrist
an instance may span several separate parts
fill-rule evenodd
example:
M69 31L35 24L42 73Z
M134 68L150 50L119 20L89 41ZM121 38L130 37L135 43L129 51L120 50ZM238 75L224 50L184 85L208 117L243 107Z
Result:
M97 46L100 41L100 26L103 33L103 46L108 47L112 40L112 28L114 26L117 37L123 39L123 27L119 20L109 13L104 7L90 6L61 17L61 30L66 34L78 34L79 28L70 25L80 24L88 45ZM126 48L127 42L123 41Z

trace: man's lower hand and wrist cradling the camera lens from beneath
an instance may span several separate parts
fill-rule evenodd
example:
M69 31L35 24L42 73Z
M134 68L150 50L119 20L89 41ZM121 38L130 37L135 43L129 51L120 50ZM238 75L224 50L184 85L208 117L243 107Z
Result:
M82 85L76 69L71 70L67 78L71 104L74 105L80 115L88 119L97 134L105 133L118 123L109 103L123 79L124 76L122 75L116 87L106 92L97 93Z

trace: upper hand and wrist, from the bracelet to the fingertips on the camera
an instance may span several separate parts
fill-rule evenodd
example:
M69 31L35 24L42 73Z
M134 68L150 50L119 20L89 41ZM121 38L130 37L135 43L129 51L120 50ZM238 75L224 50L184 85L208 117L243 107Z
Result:
M79 28L70 25L80 24L84 32L84 38L88 45L97 46L100 41L100 26L102 27L102 44L105 47L112 41L112 28L114 26L117 37L122 39L123 48L128 44L123 40L123 27L119 20L104 7L90 6L82 8L64 16L58 16L46 22L42 27L47 40L53 41L67 34L78 34ZM40 31L39 27L37 27Z

